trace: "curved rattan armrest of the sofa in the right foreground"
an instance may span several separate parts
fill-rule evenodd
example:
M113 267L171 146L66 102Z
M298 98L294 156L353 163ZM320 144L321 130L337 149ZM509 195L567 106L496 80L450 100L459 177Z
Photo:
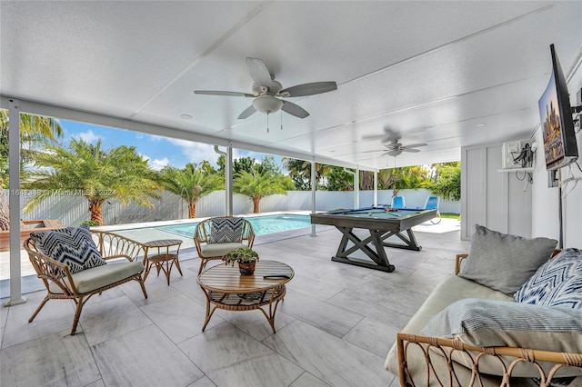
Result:
M464 355L463 358L465 359L465 362L469 359L469 362L471 363L460 367L464 367L471 372L471 377L475 378L474 380L476 381L479 381L481 378L479 365L482 364L487 357L496 358L495 363L497 363L499 374L503 377L504 381L508 381L510 378L515 377L512 376L512 372L516 370L516 365L520 362L532 363L534 365L532 369L539 372L539 378L542 381L545 380L547 382L545 385L550 385L552 378L555 377L556 372L561 368L567 366L582 368L582 353L550 352L519 347L477 347L461 342L458 339L442 339L438 337L427 337L407 333L397 333L396 345L399 367L398 374L400 385L403 386L415 385L415 375L412 375L408 370L408 359L406 359L406 354L411 349L411 346L423 351L426 362L424 365L426 368L421 373L428 375L429 379L432 380L439 379L435 372L434 364L431 363L431 359L434 360L433 353L438 353L438 355L442 356L444 361L448 364L455 362L455 359L453 359L454 355ZM548 362L551 363L550 365L552 366L549 369L547 369L547 367L546 369L543 369L540 362ZM441 385L449 385L449 382L452 384L458 383L458 375L455 372L455 367L448 367L448 370L450 372L448 375L450 381L443 381L441 374L441 379L439 380ZM582 370L580 371L582 372ZM477 383L477 385L480 384Z

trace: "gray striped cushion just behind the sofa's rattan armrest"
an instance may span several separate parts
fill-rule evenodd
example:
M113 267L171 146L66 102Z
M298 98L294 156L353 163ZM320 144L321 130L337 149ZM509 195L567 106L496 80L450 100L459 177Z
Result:
M426 336L459 339L478 347L521 347L543 351L582 353L582 310L469 298L451 303L421 330ZM470 366L468 355L457 352L457 362ZM526 365L526 364L522 364ZM520 365L514 376L538 376L535 367ZM544 363L543 368L551 367ZM485 357L480 372L501 374L497 359ZM564 368L560 376L582 374Z

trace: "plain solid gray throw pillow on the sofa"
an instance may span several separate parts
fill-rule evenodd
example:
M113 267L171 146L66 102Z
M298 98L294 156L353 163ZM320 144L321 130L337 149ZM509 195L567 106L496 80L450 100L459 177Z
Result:
M476 224L459 276L513 296L547 262L556 245L555 239L527 239Z

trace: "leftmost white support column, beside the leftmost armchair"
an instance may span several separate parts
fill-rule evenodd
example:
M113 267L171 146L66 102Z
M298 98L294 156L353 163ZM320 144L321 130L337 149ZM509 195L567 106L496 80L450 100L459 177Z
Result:
M10 301L5 306L25 303L20 273L20 104L8 100L8 205L10 207Z

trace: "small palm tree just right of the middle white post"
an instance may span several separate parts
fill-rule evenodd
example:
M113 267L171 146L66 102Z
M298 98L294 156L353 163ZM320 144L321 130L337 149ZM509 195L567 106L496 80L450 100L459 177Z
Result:
M253 213L259 213L261 199L272 194L287 194L287 189L293 189L294 184L283 174L273 174L269 171L252 173L240 171L233 181L236 193L242 193L253 201Z

